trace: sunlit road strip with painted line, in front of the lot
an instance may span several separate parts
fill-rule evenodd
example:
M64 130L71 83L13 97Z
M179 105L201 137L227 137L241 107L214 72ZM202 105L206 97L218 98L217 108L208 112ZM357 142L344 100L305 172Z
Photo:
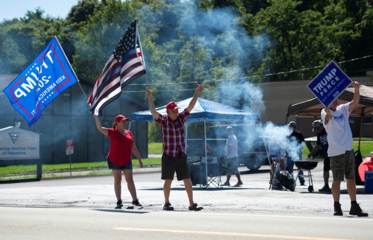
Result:
M2 239L371 239L371 218L86 208L2 208Z

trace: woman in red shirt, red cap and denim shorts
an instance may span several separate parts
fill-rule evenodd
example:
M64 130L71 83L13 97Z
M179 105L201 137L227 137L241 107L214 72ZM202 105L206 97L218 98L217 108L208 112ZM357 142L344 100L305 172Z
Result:
M117 208L123 207L122 202L122 171L126 178L128 190L132 196L132 204L141 207L136 195L136 187L132 175L131 152L136 156L140 167L143 166L140 154L133 141L132 132L126 130L126 121L130 120L123 115L118 115L113 123L113 128L102 127L96 115L93 115L97 129L110 139L110 150L107 154L107 165L114 176L114 190L117 196Z

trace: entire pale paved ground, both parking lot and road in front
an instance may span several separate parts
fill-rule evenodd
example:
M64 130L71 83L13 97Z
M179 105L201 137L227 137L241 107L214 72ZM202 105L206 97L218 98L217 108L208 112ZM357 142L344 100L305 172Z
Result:
M341 186L343 217L334 217L330 193L269 190L268 166L256 173L240 167L241 187L194 187L204 207L188 211L182 182L172 184L173 212L162 211L159 172L134 174L142 208L133 207L122 185L124 207L115 210L112 176L63 178L0 185L0 235L4 239L371 239L372 194L358 186L367 218L348 215L346 183ZM311 170L321 188L322 163ZM226 177L222 177L224 182ZM232 176L231 184L236 182ZM124 181L124 180L123 180Z

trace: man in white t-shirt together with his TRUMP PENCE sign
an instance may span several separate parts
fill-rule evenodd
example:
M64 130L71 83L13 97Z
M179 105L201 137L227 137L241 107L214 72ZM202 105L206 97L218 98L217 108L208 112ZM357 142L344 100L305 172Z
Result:
M355 157L352 148L352 132L349 115L359 104L360 84L353 82L354 98L347 104L338 105L338 96L352 83L347 75L334 61L313 79L307 87L321 101L325 108L321 111L321 119L327 132L329 144L328 156L333 174L331 193L334 200L334 216L343 216L340 204L341 181L346 178L347 191L351 200L350 215L367 217L356 202Z

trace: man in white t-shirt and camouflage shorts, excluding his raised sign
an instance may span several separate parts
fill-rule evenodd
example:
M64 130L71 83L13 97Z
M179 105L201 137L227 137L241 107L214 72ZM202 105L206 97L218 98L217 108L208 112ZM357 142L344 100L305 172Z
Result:
M321 111L321 119L328 134L328 156L330 157L330 169L333 174L331 193L334 200L334 216L343 216L340 195L341 181L346 176L347 191L351 200L350 215L367 217L356 202L355 184L355 157L352 149L352 132L349 124L349 115L359 104L360 93L358 82L353 82L355 89L354 98L347 104L338 105L338 99L334 100L328 108Z

